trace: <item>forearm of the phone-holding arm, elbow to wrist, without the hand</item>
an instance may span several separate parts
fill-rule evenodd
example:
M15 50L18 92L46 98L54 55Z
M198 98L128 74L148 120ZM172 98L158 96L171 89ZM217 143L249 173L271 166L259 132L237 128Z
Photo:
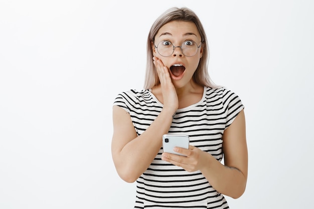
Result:
M237 168L223 165L206 152L203 157L207 165L201 169L201 172L210 184L222 194L232 198L240 197L246 186L245 175Z

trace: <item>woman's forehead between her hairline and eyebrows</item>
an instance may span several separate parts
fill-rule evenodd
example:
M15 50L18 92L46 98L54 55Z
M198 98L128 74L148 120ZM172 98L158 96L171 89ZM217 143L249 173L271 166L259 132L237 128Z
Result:
M165 24L159 29L155 39L162 38L163 36L172 36L181 38L185 36L193 36L201 39L201 35L193 22L172 21Z

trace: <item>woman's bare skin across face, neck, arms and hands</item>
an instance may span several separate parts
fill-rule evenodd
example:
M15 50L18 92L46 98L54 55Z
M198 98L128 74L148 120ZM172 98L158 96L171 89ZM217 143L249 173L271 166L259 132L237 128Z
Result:
M186 40L200 43L201 36L194 23L173 21L164 25L156 34L156 44L163 40L181 46ZM137 136L130 115L118 106L113 107L112 157L119 176L127 182L134 182L158 154L162 146L162 135L168 133L176 110L199 102L203 95L204 87L192 79L203 49L199 49L193 57L186 57L180 48L175 48L170 57L163 57L153 44L153 62L160 85L154 86L152 93L163 103L163 110L146 131ZM176 77L170 71L170 67L176 63L186 67L182 76ZM189 149L176 147L175 151L186 156L163 153L162 159L189 172L200 170L218 192L233 198L243 194L248 171L243 110L223 134L224 165L211 154L192 145Z

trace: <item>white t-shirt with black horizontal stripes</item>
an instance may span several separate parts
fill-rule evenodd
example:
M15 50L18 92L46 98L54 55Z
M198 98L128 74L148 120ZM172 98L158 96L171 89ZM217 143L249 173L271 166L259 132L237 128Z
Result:
M130 114L137 135L142 134L163 109L163 104L150 90L122 92L114 105ZM189 135L191 145L221 161L224 130L243 108L233 92L204 87L201 101L176 111L169 134ZM134 208L229 208L224 196L200 171L188 172L163 161L162 153L163 147L136 180Z

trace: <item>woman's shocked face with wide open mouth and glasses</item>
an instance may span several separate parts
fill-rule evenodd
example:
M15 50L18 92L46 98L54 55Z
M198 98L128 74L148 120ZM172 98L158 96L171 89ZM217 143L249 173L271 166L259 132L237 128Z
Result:
M172 21L164 25L156 34L151 46L153 55L170 69L170 76L177 88L193 82L192 76L203 53L202 46L199 47L201 41L201 35L193 22ZM173 46L175 50L171 54ZM182 46L183 51L177 46Z

